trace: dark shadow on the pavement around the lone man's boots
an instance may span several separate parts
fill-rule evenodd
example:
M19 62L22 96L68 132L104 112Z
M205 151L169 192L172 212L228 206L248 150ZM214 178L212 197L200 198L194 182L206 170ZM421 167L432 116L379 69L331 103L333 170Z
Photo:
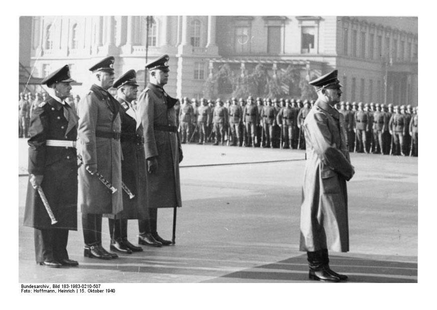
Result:
M417 263L330 255L333 270L349 276L349 282L417 283ZM248 268L204 282L310 282L306 254ZM314 281L311 281L314 282Z

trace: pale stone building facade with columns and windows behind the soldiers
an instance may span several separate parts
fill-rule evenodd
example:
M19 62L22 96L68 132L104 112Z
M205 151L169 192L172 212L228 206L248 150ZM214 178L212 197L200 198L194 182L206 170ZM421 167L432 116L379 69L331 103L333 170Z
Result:
M417 17L153 16L148 35L147 16L20 18L28 19L20 35L30 38L22 52L33 75L68 63L82 82L74 93L89 88L87 68L107 55L115 57L116 76L133 68L142 88L147 45L149 60L169 54L166 90L173 96L202 96L206 78L223 63L236 72L263 63L269 74L290 64L303 76L338 68L345 100L418 103Z

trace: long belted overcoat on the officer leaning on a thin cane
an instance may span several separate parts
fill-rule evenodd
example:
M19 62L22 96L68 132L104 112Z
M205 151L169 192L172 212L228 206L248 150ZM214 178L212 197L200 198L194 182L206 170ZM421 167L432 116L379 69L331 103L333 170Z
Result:
M168 108L167 104L171 107ZM146 158L156 156L158 168L146 174L148 204L151 208L182 206L179 158L182 148L174 131L158 130L159 126L176 127L174 102L162 87L149 83L138 97L137 111L144 128Z

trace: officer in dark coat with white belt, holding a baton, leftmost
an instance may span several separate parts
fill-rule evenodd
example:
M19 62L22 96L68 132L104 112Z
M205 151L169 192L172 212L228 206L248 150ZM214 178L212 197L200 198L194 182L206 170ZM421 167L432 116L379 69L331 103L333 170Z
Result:
M68 65L46 76L41 84L51 96L33 110L30 121L24 225L34 228L36 262L47 267L78 265L67 253L68 230L77 230L77 115L65 102L72 81ZM56 223L51 224L38 188Z

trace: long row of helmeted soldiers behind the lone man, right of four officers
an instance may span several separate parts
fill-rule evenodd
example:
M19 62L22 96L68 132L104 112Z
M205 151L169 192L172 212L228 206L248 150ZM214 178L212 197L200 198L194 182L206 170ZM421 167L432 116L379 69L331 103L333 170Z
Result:
M182 143L305 148L302 124L315 101L232 97L223 102L182 98L178 131ZM341 101L349 151L418 155L418 108Z

